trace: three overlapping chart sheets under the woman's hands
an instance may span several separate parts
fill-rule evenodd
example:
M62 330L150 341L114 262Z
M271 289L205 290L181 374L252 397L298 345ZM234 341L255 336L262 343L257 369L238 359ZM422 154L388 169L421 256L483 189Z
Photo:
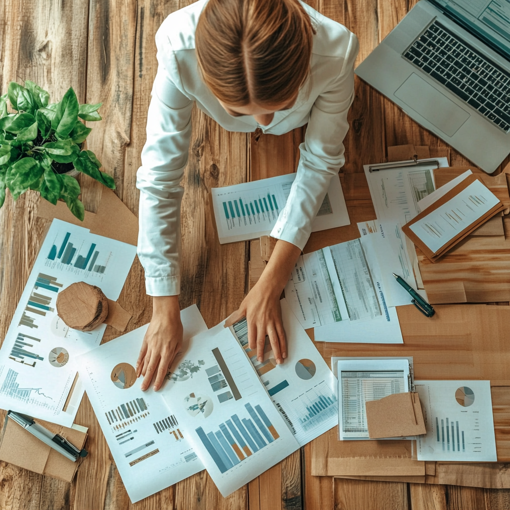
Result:
M87 395L133 502L203 468L227 496L338 423L336 378L285 301L282 365L267 339L257 362L246 321L195 335L205 327L196 306L181 314L183 351L160 392L141 392L135 376L147 326L80 358Z

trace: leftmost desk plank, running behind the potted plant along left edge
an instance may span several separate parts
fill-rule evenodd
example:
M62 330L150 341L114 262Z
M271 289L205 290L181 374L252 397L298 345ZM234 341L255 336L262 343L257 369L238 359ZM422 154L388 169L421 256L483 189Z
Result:
M85 100L88 5L78 0L6 0L0 6L0 91L10 81L32 80L60 100L73 87ZM5 338L16 304L33 266L45 220L36 219L38 194L29 192L14 203L10 193L0 210L0 338ZM0 420L3 421L4 412ZM14 471L13 471L14 470ZM16 473L14 479L13 473ZM12 491L3 508L60 508L69 505L69 483L45 479L5 463L0 479Z

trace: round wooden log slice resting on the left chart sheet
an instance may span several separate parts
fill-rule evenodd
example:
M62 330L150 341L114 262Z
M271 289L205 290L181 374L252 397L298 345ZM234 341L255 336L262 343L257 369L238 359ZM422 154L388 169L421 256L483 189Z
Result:
M91 331L107 318L108 298L94 285L71 284L58 295L57 314L69 327Z

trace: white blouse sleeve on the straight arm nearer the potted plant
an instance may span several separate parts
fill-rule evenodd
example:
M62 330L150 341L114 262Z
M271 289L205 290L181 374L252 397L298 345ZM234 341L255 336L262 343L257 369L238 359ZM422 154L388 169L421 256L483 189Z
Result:
M138 257L151 296L181 290L181 186L188 160L193 100L174 83L158 52L147 114L147 140L137 172L140 190ZM168 62L171 55L164 55Z

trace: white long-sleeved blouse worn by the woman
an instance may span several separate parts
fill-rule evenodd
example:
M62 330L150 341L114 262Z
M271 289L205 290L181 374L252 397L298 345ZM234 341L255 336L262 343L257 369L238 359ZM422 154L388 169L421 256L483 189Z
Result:
M170 14L156 34L158 72L147 114L147 140L137 173L140 190L138 257L147 294L180 293L180 185L188 160L193 101L227 131L281 135L308 122L299 146L297 176L271 236L299 248L306 244L333 175L344 164L347 111L354 98L353 66L358 39L343 25L302 4L316 30L311 72L294 106L274 113L267 126L252 116L225 112L201 79L195 54L195 28L207 0Z

